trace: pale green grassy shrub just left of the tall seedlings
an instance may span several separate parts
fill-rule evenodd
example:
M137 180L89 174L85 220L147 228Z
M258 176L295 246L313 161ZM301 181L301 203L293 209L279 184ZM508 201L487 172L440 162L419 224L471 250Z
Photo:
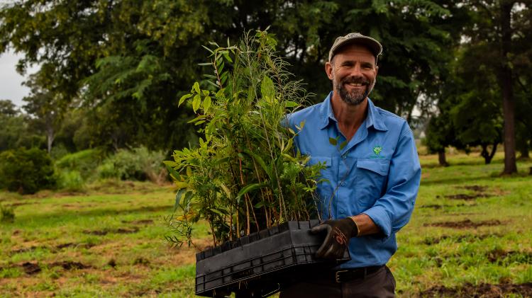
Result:
M121 149L98 167L98 176L161 183L166 178L163 159L165 154L162 151L149 151L146 147Z

